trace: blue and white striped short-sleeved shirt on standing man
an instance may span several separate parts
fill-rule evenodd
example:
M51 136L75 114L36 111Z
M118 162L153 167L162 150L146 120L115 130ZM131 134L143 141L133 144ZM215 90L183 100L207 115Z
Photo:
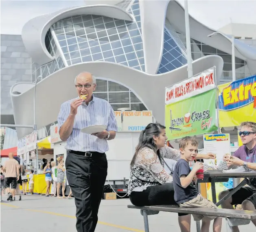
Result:
M71 99L61 105L58 116L59 129L67 120L70 114L70 103L74 100ZM106 125L107 131L117 131L116 116L113 108L104 99L94 96L88 105L83 103L77 108L73 130L70 137L68 137L66 149L81 152L96 151L100 153L105 153L109 150L107 140L81 132L81 129L84 127L92 125Z

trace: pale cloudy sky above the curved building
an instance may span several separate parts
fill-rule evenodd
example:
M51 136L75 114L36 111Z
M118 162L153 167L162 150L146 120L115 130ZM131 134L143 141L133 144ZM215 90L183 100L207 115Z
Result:
M70 6L81 6L83 0L1 0L1 34L21 34L31 18ZM179 1L184 6L184 0ZM190 0L189 13L215 30L230 23L256 24L255 0Z

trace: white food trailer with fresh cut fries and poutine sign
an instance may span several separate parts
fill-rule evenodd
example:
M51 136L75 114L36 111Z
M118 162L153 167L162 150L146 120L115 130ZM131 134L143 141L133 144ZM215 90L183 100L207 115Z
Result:
M108 171L105 185L111 185L117 193L127 193L130 162L138 144L140 131L153 122L153 116L151 111L115 111L115 114L118 132L114 140L108 141ZM58 125L51 126L50 137L54 160L56 161L59 156L66 160L66 142L59 137Z

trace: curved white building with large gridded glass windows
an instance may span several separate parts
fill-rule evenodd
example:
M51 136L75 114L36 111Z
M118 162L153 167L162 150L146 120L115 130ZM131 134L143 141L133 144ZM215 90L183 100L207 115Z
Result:
M190 17L193 72L217 67L218 81L232 79L231 44ZM59 107L76 96L81 71L97 79L95 95L114 110L152 110L164 123L164 87L187 77L184 9L176 1L89 1L28 21L22 30L37 84L38 128L56 121ZM236 77L256 73L256 49L236 41ZM11 89L15 124L33 124L35 84ZM30 132L17 128L18 137Z

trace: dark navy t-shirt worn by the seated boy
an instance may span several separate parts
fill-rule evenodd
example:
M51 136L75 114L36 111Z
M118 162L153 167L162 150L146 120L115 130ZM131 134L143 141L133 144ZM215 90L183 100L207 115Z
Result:
M174 200L177 204L188 202L194 199L198 195L196 187L191 182L186 189L184 189L180 183L180 177L182 175L188 176L190 168L186 160L179 159L175 165L173 173L173 188L174 188Z

